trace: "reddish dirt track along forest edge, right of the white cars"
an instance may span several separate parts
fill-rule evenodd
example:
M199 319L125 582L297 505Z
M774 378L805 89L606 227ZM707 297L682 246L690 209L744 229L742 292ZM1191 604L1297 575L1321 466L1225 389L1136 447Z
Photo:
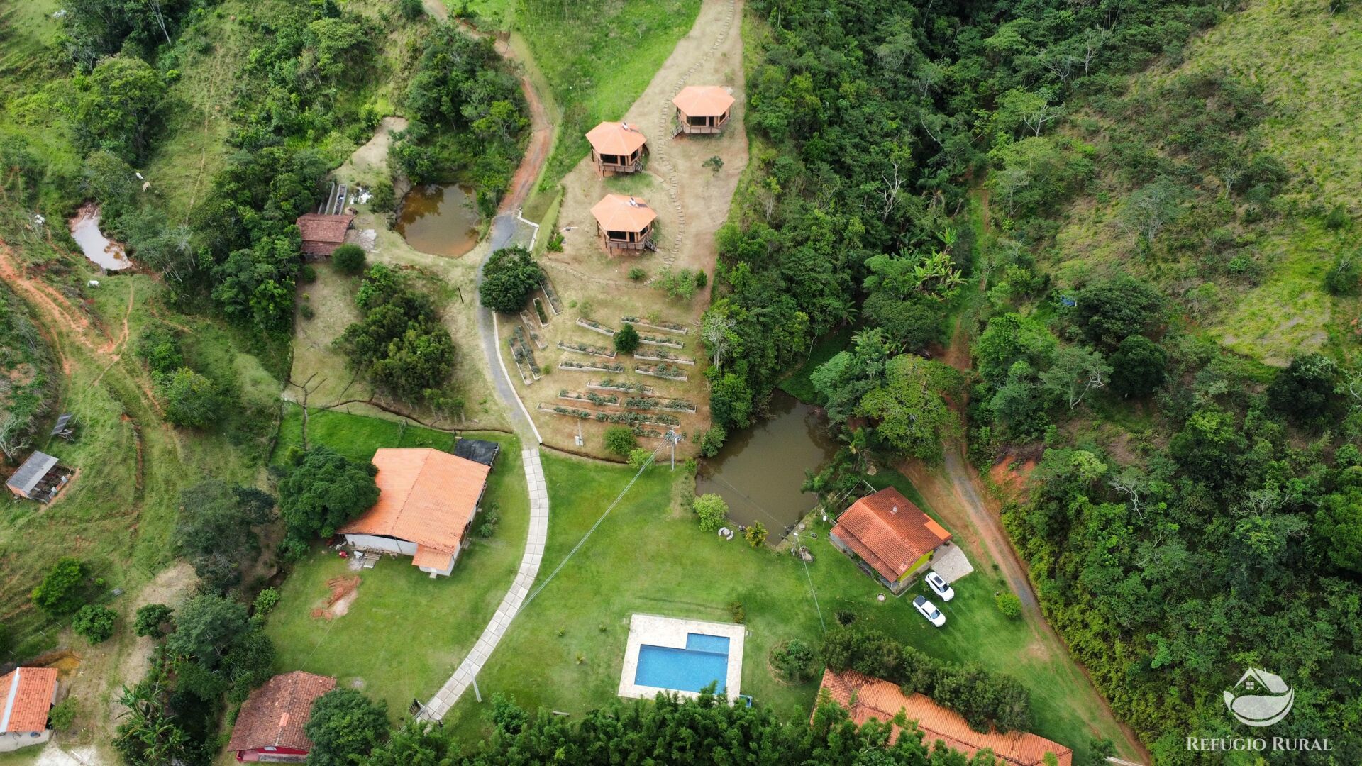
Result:
M943 361L962 371L970 368L970 334L964 319L956 324ZM956 409L963 417L964 403ZM964 544L971 548L975 557L997 563L1002 579L1022 601L1022 612L1027 627L1031 628L1035 650L1083 676L1075 686L1083 690L1084 699L1072 702L1075 710L1084 716L1088 728L1096 733L1109 729L1110 726L1103 724L1110 721L1125 736L1125 741L1118 743L1118 750L1126 756L1139 756L1144 763L1151 763L1152 756L1148 750L1135 732L1115 717L1111 706L1092 686L1087 669L1073 658L1064 639L1046 622L1041 602L1031 587L1027 567L1002 529L1001 507L966 459L964 447L963 442L947 446L943 465L937 469L929 468L922 461L903 462L898 468L922 492L928 504L963 536Z

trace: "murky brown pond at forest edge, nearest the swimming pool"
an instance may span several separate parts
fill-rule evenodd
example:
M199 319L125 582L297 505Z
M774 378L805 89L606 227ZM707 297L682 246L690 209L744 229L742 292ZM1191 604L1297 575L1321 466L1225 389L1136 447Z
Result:
M776 391L770 413L701 461L696 492L722 496L730 519L744 526L760 521L775 541L813 510L817 496L799 491L804 472L832 459L838 444L823 412L789 394Z

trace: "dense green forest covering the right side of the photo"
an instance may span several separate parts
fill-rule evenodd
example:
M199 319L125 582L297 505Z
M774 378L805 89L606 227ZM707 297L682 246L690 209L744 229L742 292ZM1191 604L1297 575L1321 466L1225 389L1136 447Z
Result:
M706 448L853 327L804 387L849 446L806 488L849 487L870 451L938 459L967 399L977 465L1042 458L1007 526L1158 762L1233 733L1220 691L1248 667L1295 684L1273 733L1362 758L1357 373L1331 350L1264 365L1197 327L1264 278L1273 221L1352 228L1343 200L1286 194L1258 86L1178 68L1235 8L753 5L753 165L706 315ZM1148 67L1171 74L1133 78ZM1100 260L1073 256L1079 202L1106 215ZM1357 294L1355 254L1331 260L1313 288ZM964 380L917 356L956 327Z

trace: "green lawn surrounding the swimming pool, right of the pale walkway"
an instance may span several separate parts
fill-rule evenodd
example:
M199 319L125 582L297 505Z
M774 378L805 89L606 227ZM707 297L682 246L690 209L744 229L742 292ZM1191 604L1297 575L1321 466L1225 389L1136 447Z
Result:
M558 455L545 455L543 468L552 518L539 582L632 476L628 468ZM817 681L778 681L768 671L767 656L775 643L789 638L817 643L823 635L821 608L828 626L835 624L838 611L853 612L859 624L936 657L977 661L1016 675L1032 692L1034 731L1073 747L1079 756L1087 752L1090 735L1068 703L1083 679L1066 658L1042 661L1039 653L1031 652L1027 624L1008 620L993 607L998 586L987 567L957 583L951 604L938 604L948 622L944 628L933 628L913 611L911 596L878 602L876 596L883 589L827 542L825 525L816 526L819 538L810 545L816 560L808 566L808 575L804 564L790 556L701 533L689 514L671 510L673 481L682 477L681 472L652 468L629 489L516 617L478 677L484 699L504 692L528 707L580 716L614 698L632 613L729 622L729 605L741 602L750 630L741 691L772 706L783 718L802 720ZM473 695L466 695L447 722L464 737L482 736L481 710Z

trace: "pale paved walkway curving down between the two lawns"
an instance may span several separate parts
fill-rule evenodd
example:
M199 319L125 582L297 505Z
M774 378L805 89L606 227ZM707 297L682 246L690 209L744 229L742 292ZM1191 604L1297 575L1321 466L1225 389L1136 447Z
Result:
M524 555L520 556L520 570L516 571L511 590L501 598L497 613L482 630L473 652L463 658L463 662L454 671L449 680L444 681L440 691L426 702L425 710L417 716L419 720L443 720L454 703L463 696L463 692L473 684L473 677L482 671L482 665L501 642L507 628L511 627L511 620L520 611L526 596L530 594L530 586L534 585L535 575L539 574L539 563L543 562L543 544L549 538L549 489L543 482L539 450L523 450L520 455L524 459L524 477L530 484L530 538L524 544Z

